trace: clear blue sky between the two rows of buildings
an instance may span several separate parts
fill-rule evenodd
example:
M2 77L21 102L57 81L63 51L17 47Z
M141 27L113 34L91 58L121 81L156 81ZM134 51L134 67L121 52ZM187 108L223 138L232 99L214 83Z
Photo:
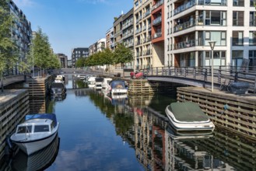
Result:
M37 31L47 34L54 53L70 59L72 48L104 38L114 17L132 9L132 0L12 0Z

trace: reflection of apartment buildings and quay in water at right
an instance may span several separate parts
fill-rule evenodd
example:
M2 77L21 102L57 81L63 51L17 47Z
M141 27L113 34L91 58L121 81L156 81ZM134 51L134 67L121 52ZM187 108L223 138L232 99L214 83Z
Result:
M256 169L256 148L244 138L218 128L212 134L177 135L166 116L146 106L145 100L128 105L134 125L124 135L146 169Z

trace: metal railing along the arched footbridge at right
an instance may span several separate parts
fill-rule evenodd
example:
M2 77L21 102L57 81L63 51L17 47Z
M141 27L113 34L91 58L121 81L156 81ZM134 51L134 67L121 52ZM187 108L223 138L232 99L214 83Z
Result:
M171 76L182 77L185 79L202 80L205 82L212 81L212 69L209 67L156 67L142 69L147 76ZM256 71L243 70L243 68L218 66L213 68L213 82L214 84L222 84L223 82L247 82L249 89L256 92Z

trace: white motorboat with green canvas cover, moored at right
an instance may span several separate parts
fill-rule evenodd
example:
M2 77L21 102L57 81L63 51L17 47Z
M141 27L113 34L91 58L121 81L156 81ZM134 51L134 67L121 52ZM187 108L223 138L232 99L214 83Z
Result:
M215 126L209 117L202 111L197 103L177 102L170 103L165 112L170 120L170 124L179 134L186 134L198 131L205 134L212 133Z

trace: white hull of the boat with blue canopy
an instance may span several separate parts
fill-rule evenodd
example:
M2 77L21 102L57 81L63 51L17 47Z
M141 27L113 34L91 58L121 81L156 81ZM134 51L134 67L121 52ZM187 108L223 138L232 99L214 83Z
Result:
M39 151L40 149L46 147L51 143L51 141L54 140L58 133L58 127L59 124L57 124L56 128L54 129L54 132L49 134L45 138L40 138L40 139L34 139L34 140L27 140L27 141L15 141L12 139L11 140L23 151L26 153L26 155L31 155L34 152Z

